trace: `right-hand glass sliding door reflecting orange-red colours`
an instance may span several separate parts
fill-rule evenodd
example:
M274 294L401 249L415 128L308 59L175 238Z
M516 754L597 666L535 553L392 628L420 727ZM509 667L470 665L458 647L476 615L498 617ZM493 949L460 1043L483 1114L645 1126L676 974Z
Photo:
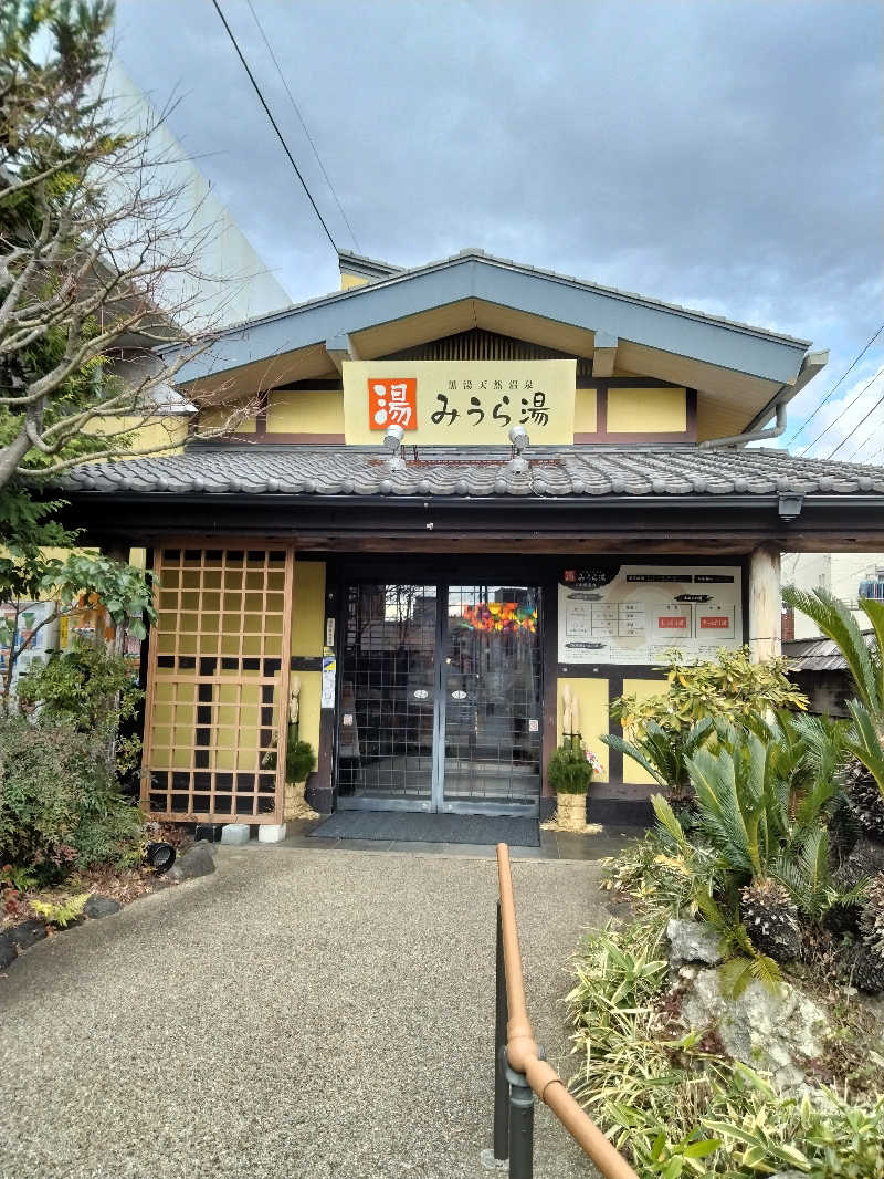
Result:
M536 812L540 798L539 594L451 585L447 593L443 810Z

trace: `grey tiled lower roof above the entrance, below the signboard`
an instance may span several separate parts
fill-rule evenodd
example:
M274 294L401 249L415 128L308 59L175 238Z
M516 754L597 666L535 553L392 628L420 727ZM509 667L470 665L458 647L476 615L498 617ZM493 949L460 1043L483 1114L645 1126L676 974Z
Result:
M784 450L697 447L532 447L525 473L509 449L405 448L390 470L369 447L192 446L177 455L74 467L68 493L211 495L884 495L884 467L798 459Z

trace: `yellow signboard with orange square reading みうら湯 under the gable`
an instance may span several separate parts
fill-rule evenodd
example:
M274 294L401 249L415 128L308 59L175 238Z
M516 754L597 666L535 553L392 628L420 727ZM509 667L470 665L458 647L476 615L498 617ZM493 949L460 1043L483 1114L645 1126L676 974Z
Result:
M344 437L380 446L401 426L415 446L508 444L513 426L533 443L574 441L575 360L344 361Z

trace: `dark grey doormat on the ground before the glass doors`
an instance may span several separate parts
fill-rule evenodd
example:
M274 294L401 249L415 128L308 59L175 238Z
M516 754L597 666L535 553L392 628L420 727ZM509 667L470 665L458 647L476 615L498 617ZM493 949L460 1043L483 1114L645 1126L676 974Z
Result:
M509 843L540 847L536 818L500 815L424 815L422 811L335 811L310 832L322 839L396 839L401 843Z

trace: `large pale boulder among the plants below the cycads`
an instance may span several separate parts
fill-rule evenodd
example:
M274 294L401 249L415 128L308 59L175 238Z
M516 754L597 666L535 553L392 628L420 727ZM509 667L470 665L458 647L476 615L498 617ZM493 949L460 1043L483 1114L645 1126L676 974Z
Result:
M738 999L725 997L718 970L701 970L688 984L681 1013L691 1027L714 1025L726 1052L771 1073L780 1088L803 1084L827 1026L823 1009L789 983L771 992L752 981Z

